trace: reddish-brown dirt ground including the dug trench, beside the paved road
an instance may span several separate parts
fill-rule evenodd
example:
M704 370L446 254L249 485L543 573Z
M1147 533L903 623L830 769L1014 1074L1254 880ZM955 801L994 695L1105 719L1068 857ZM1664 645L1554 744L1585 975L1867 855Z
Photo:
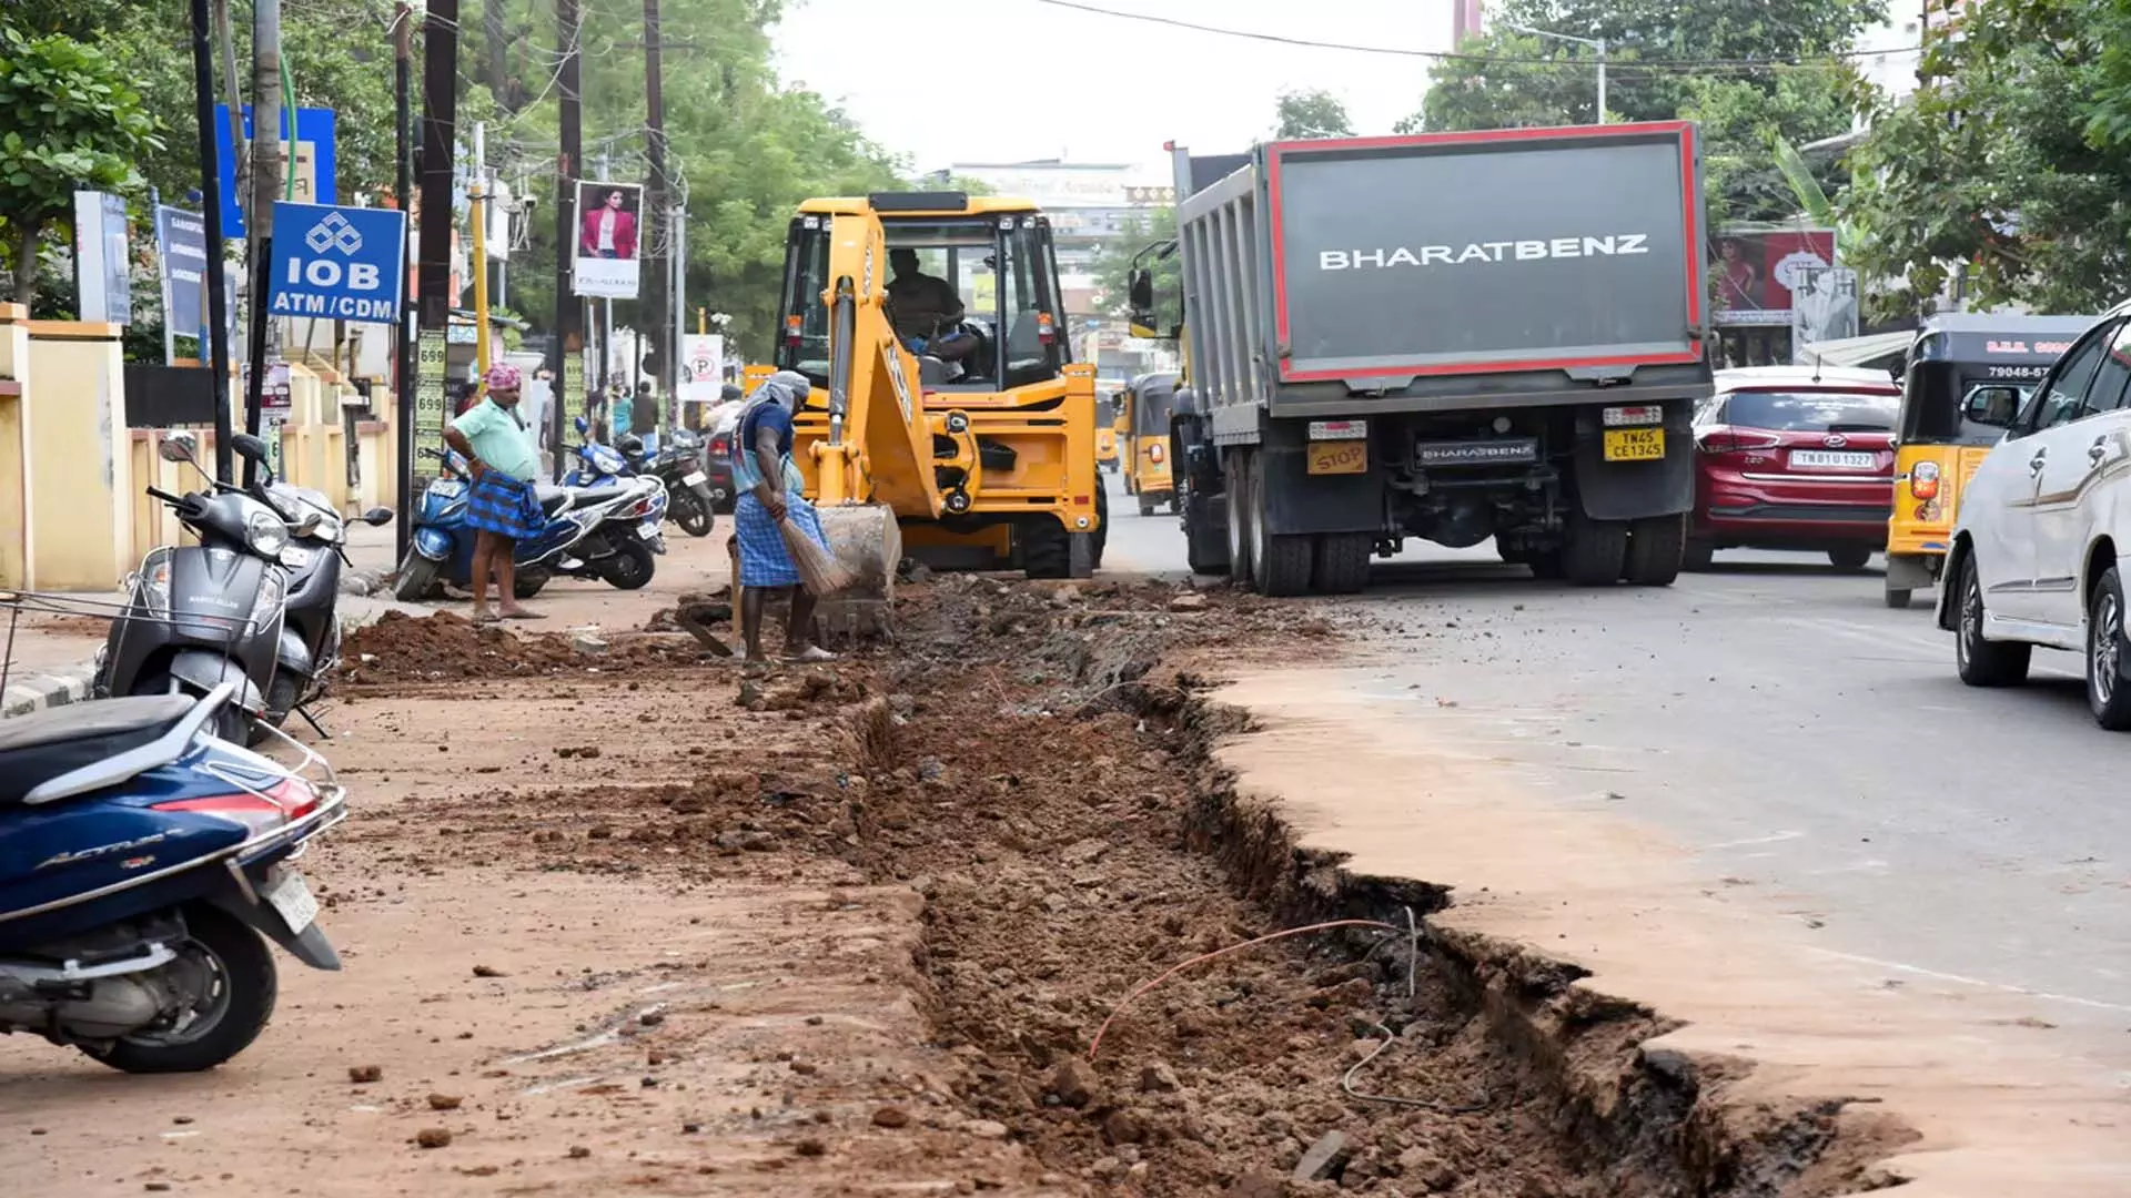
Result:
M452 616L349 637L335 759L360 814L307 868L367 989L288 978L300 1004L188 1121L298 1138L286 1164L254 1153L245 1192L1890 1183L1862 1164L1884 1128L1839 1102L1728 1108L1737 1066L1639 1051L1660 1015L1434 936L1441 891L1349 878L1240 797L1210 763L1240 721L1195 669L1334 654L1306 610L989 578L899 608L895 646L771 671L684 633L592 657ZM1330 919L1387 927L1202 961L1119 1013L1195 955ZM0 1126L109 1091L64 1055L30 1083L13 1062ZM247 1070L264 1081L228 1085ZM239 1115L262 1094L279 1115ZM92 1128L36 1160L62 1189L100 1168L234 1192L205 1157L132 1168Z

